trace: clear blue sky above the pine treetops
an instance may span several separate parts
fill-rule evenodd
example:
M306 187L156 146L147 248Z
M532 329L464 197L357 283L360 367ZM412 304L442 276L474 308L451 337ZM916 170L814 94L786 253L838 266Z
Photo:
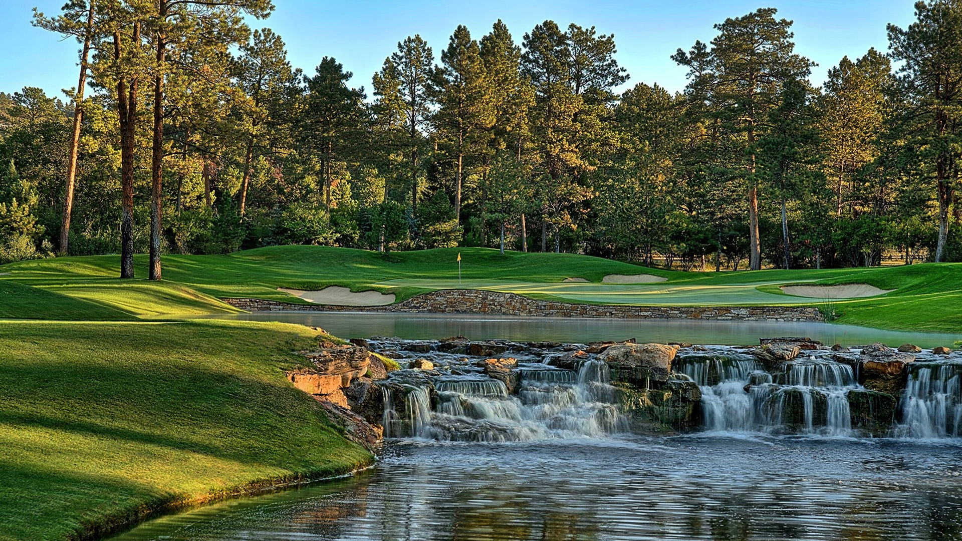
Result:
M76 84L78 45L72 39L34 28L31 10L59 13L64 0L0 0L0 90L41 87L59 94ZM671 62L678 48L714 36L712 25L759 7L778 8L795 21L797 52L819 64L812 81L819 85L829 67L845 55L858 57L869 47L887 50L886 23L905 26L913 20L913 0L485 0L481 2L342 2L274 0L276 10L264 21L285 39L291 64L313 73L324 56L333 56L354 72L352 84L370 89L370 76L380 68L400 39L420 34L435 57L458 24L480 38L501 18L520 42L544 19L561 26L570 22L615 34L618 60L631 74L628 85L658 83L682 90L685 69Z

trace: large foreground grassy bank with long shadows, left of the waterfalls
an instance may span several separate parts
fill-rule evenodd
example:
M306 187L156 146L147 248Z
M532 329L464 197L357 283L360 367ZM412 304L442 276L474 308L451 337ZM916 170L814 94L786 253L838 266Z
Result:
M0 322L0 539L91 525L370 455L282 373L308 327Z

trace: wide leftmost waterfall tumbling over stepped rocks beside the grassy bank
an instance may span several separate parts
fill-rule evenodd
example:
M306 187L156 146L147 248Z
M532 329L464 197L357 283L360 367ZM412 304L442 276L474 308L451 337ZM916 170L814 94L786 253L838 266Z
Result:
M521 367L517 394L482 374L445 374L424 387L385 386L385 437L444 441L532 441L602 437L626 423L614 402L608 366L583 362L577 372L544 364ZM397 393L405 394L399 415Z

